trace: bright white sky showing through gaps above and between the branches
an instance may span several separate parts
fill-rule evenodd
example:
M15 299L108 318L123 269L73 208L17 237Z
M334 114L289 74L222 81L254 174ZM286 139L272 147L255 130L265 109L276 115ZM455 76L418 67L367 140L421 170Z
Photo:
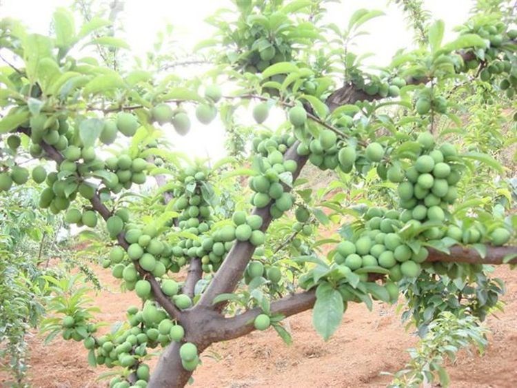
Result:
M392 1L393 2L393 1ZM0 0L0 17L21 19L33 32L47 33L52 12L59 6L69 7L71 0ZM210 38L212 27L203 22L214 10L228 6L228 0L125 0L123 25L127 41L134 55L145 53L163 29L165 23L172 23L176 40L181 42L185 52L203 39ZM374 57L365 61L369 65L387 65L398 48L412 45L413 32L407 29L401 10L394 4L387 6L386 0L342 0L327 5L328 20L344 26L350 15L359 8L383 10L384 17L366 24L369 35L357 39L356 52L373 52ZM474 0L426 0L425 8L434 19L443 19L446 26L445 41L454 37L452 28L463 23ZM192 119L195 120L192 115ZM274 119L266 122L273 123ZM167 128L165 128L167 129ZM168 129L167 132L174 132ZM172 134L176 147L197 156L210 155L212 159L224 156L224 131L221 123L193 125L190 134L180 137ZM202 145L202 146L200 146Z

